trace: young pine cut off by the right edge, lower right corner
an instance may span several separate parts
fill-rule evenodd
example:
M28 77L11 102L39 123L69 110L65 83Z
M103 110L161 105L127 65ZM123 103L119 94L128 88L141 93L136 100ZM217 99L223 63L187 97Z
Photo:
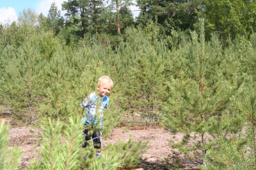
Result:
M252 76L243 75L244 83L239 93L232 97L235 110L232 124L229 119L215 120L217 127L230 126L228 137L218 136L212 140L204 157L202 169L255 169L255 85ZM241 82L240 82L241 83ZM239 83L239 84L240 84ZM222 119L221 119L222 120ZM239 124L237 124L239 123Z

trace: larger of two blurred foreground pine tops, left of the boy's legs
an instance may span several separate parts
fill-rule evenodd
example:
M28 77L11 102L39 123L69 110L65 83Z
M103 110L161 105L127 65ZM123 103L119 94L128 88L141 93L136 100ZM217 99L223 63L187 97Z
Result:
M77 157L83 141L81 118L70 118L68 125L49 119L42 128L42 152L39 153L42 160L33 160L28 168L77 169Z

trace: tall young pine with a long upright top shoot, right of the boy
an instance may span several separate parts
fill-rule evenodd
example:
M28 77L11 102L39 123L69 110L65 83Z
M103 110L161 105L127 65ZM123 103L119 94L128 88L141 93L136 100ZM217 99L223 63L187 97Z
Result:
M163 117L165 127L185 134L180 143L173 142L172 146L179 148L182 153L193 153L192 157L189 154L186 157L195 160L207 154L207 150L212 147L212 141L218 137L227 139L227 134L241 132L243 125L243 121L237 120L235 113L232 114L234 109L230 107L230 97L239 87L239 83L236 79L228 81L223 76L221 64L218 63L218 52L208 53L216 50L217 46L213 48L205 42L204 20L201 20L199 37L198 39L195 31L192 32L189 42L191 44L187 43L184 57L178 58L186 64L180 68L182 70L179 70L175 79L170 77L171 97L167 104L172 107L163 107L164 112L168 112ZM212 139L208 139L207 135ZM192 146L186 146L193 136L198 141Z

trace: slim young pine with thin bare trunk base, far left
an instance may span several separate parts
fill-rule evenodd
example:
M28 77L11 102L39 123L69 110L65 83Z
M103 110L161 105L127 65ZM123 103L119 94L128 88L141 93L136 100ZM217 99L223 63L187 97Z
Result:
M17 53L17 59L15 59L17 64L19 63L19 65L22 66L22 68L19 66L17 75L20 77L20 82L17 86L17 94L23 95L22 97L19 97L19 95L17 97L20 98L20 104L22 104L23 107L28 107L31 120L34 119L33 107L37 105L37 95L40 94L40 84L38 84L37 80L39 79L42 73L42 67L44 66L44 62L40 62L40 59L38 45L33 47L29 41L20 48ZM15 82L15 80L13 81ZM19 102L17 103L19 104Z

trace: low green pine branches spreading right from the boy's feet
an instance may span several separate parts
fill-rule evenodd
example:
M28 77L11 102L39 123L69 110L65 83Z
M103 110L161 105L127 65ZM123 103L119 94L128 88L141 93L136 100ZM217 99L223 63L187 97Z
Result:
M92 145L87 146L80 152L79 166L86 169L117 169L118 167L131 168L140 163L140 155L147 150L147 143L134 141L118 141L108 143L102 149L100 157L95 157L97 150Z

